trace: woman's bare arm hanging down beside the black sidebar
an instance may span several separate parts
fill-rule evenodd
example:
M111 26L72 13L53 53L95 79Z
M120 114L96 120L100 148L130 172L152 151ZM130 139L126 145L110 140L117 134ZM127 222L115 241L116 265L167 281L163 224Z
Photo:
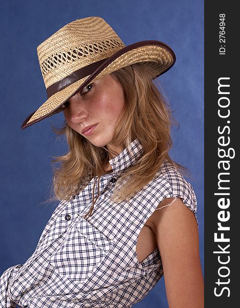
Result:
M158 207L173 200L166 198ZM154 211L148 224L162 258L169 307L203 308L204 282L194 214L176 198L171 206Z

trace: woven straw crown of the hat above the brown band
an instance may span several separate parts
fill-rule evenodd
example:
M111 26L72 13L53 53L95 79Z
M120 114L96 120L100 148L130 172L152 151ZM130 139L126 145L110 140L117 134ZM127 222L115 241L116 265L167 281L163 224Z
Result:
M67 24L37 47L46 88L124 47L121 38L101 17L81 18Z

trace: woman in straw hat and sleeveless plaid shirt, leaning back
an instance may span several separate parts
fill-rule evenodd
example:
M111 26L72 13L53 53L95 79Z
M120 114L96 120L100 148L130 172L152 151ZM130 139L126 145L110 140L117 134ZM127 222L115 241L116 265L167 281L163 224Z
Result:
M33 255L2 275L2 306L131 307L164 273L170 307L203 307L195 194L168 155L170 111L152 82L173 51L126 47L88 17L37 52L48 100L22 128L63 111L69 152L54 170L61 202Z

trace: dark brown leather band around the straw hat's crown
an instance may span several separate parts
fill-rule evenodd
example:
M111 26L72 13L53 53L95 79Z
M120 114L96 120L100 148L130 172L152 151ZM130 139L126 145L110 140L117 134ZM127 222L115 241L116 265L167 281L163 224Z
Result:
M53 85L47 88L47 95L48 99L55 93L63 90L64 88L70 86L74 82L81 80L82 78L91 75L97 68L100 66L104 61L107 59L100 60L89 64L83 68L76 70L75 72L71 73L70 75L66 76L61 81L55 82Z

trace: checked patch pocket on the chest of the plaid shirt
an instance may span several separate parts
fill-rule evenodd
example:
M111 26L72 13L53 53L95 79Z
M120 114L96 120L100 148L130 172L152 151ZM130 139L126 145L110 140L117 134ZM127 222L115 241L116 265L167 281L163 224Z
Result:
M79 218L61 247L51 256L50 263L61 275L82 282L110 251L113 243L89 221Z

